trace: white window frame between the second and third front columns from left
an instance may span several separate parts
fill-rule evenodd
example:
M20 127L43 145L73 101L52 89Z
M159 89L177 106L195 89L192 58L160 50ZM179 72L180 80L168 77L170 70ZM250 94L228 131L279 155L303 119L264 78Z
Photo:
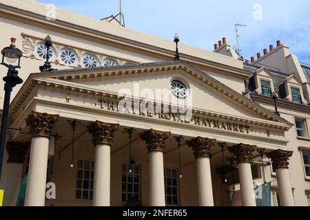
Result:
M123 172L123 166L126 166L126 170L127 172L124 173ZM132 166L132 173L129 172L129 166ZM138 166L138 174L134 173L134 166ZM123 181L123 175L126 175L126 181ZM128 182L128 175L132 175L132 182ZM138 184L134 183L134 175L138 175ZM121 166L121 202L122 204L125 206L128 203L128 195L129 194L136 194L136 192L134 192L134 184L138 185L138 201L136 202L141 202L141 165L138 164L122 164ZM126 190L123 191L123 184L126 184ZM128 192L128 188L127 188L127 184L132 184L132 192ZM126 194L126 201L123 201L123 193Z

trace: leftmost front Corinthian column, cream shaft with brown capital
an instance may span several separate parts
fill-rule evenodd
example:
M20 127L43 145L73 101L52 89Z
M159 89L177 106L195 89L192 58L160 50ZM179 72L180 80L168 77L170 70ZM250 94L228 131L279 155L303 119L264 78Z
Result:
M25 206L44 206L48 169L48 144L59 115L32 111L25 120L32 133Z

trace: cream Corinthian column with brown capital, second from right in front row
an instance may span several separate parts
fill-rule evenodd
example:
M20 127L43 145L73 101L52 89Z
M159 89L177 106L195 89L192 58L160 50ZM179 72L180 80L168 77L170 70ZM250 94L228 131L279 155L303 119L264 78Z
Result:
M254 197L253 177L251 172L251 158L256 146L248 144L237 144L228 147L234 154L234 159L238 164L238 174L240 179L242 206L256 206Z

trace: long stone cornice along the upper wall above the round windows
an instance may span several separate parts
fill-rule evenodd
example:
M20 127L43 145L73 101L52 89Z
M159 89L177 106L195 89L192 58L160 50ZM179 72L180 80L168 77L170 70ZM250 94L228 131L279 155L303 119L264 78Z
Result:
M141 43L139 41L134 41L127 39L122 36L116 36L106 32L101 32L98 30L83 27L81 25L75 25L73 23L68 23L65 21L60 21L58 19L49 21L45 16L41 14L34 14L33 12L21 10L19 8L12 8L8 5L1 4L0 16L12 19L14 21L20 21L23 23L35 23L36 26L48 28L48 30L56 28L59 32L66 34L76 34L83 39L92 39L92 41L101 43L110 43L118 47L127 47L128 50L137 50L139 52L151 54L151 56L161 57L164 60L171 60L174 56L173 50L168 50L163 47L157 47L155 45L149 45L147 43ZM193 47L194 48L194 47ZM220 54L217 54L219 56ZM218 71L226 72L234 76L239 76L242 78L247 78L251 76L251 72L237 68L231 67L229 65L223 65L222 63L216 63L214 61L208 61L203 58L198 58L196 56L191 56L188 54L181 54L183 61L188 61L193 65L200 65L202 67L207 67L211 69L218 69ZM223 55L225 58L225 56ZM227 57L226 57L227 58Z

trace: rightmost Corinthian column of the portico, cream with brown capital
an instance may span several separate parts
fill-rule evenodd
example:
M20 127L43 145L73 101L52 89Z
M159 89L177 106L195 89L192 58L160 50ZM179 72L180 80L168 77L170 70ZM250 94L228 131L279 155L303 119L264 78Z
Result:
M266 153L276 169L281 206L295 206L291 181L289 180L289 157L293 151L276 150Z

